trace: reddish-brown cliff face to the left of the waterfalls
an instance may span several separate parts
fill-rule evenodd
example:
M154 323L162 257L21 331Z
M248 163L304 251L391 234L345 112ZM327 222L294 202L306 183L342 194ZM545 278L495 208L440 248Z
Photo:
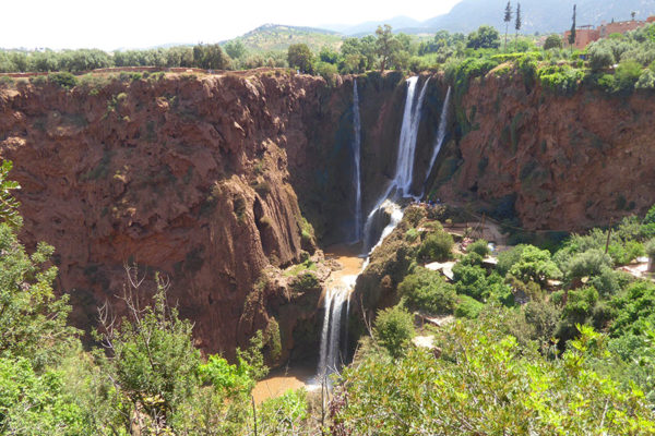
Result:
M262 269L313 249L294 185L311 190L334 141L312 142L329 132L317 112L338 118L349 93L273 73L0 89L0 157L23 186L21 237L56 247L73 322L94 325L105 301L120 314L123 265L136 263L170 278L199 346L233 355L247 344L261 326L239 319Z

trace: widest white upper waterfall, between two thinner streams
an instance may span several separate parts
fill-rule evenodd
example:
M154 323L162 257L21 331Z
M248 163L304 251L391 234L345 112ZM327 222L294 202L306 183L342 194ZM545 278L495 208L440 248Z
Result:
M421 118L421 109L424 99L426 96L426 90L428 89L428 82L430 78L426 81L418 96L418 101L416 104L415 95L416 95L416 86L418 83L418 76L413 76L407 78L407 97L405 98L405 109L403 111L403 124L401 126L401 137L398 141L398 156L396 160L396 171L393 180L391 181L389 187L385 193L376 202L374 207L370 211L367 217L366 223L364 226L364 250L365 253L370 253L372 249L378 246L382 239L384 239L391 231L397 226L397 222L403 218L403 211L398 205L392 202L392 196L397 201L402 197L412 196L412 182L414 180L414 160L416 153L416 138L418 136L418 128L420 125ZM395 208L391 214L392 219L390 226L394 223L394 214L395 218L400 216L397 222L390 228L386 226L384 231L382 232L382 238L379 242L373 246L372 239L374 238L373 233L373 221L376 219L377 214L383 208L385 202L391 203ZM388 205L389 206L389 205ZM395 210L397 209L397 211ZM388 230L389 229L389 230ZM385 234L386 232L386 234Z

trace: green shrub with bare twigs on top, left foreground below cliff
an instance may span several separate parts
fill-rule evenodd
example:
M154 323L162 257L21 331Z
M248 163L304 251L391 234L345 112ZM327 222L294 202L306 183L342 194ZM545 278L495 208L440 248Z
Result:
M128 277L123 301L129 315L117 326L107 306L100 312L97 339L108 353L98 359L130 404L126 419L141 411L147 416L141 427L160 434L198 386L200 352L193 347L192 324L168 306L162 279L156 277L154 306L142 310L132 296L144 292L136 269L129 268Z

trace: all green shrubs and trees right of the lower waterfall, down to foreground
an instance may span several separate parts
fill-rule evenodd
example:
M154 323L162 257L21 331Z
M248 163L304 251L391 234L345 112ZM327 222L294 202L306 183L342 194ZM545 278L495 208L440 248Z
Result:
M385 317L407 306L457 320L415 326L437 351L397 346L409 335L392 353L362 341L333 401L333 435L655 432L655 284L615 269L655 250L654 217L572 234L552 254L519 245L495 268L483 263L485 241L469 244L451 284L416 265L431 261L420 247L442 230L410 210L405 237L438 230L401 239L417 249L407 252L416 266Z

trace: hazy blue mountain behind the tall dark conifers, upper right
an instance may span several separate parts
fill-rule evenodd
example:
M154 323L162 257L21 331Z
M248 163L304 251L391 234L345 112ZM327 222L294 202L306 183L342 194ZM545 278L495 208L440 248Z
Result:
M416 22L407 17L393 17L381 22L366 22L355 26L330 25L331 29L338 29L344 35L361 35L373 33L380 24L391 24L394 32L408 34L434 33L450 31L469 33L483 24L490 24L504 32L502 21L507 0L462 0L443 15L434 16L424 22ZM522 33L535 32L562 33L571 27L573 4L577 4L577 24L598 25L602 21L631 20L630 13L636 12L636 20L645 20L655 15L655 0L522 0L521 10L523 17ZM512 8L516 8L516 0L512 0ZM403 21L406 20L406 21ZM513 32L514 23L510 23Z

